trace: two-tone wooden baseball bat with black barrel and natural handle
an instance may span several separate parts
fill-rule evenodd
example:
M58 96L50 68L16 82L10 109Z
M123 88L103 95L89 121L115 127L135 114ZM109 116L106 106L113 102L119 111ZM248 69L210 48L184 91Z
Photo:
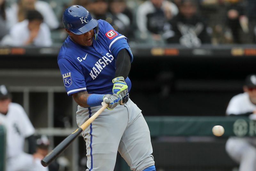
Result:
M100 113L108 107L107 104L103 105L96 113L92 115L91 118L86 120L79 128L77 128L72 134L67 136L59 145L57 145L51 152L49 152L41 163L44 167L47 167L54 159L56 159L61 152L63 152L75 139L79 136L85 128L87 128L93 120L95 120Z

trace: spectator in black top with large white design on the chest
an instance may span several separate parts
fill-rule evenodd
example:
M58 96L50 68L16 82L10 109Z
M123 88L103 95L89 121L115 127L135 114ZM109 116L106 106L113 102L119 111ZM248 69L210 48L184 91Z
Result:
M203 43L211 43L208 26L197 15L195 0L181 0L179 14L171 20L173 35L167 43L180 43L186 47L199 47Z

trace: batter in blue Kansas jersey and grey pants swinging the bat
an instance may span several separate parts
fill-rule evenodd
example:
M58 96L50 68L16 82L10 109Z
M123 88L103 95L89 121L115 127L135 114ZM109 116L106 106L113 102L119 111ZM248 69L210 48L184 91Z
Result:
M80 126L108 104L82 135L86 142L87 171L113 171L117 151L134 171L155 171L148 125L129 98L132 51L127 38L104 20L95 20L80 5L63 13L68 37L58 65L69 96L77 102Z

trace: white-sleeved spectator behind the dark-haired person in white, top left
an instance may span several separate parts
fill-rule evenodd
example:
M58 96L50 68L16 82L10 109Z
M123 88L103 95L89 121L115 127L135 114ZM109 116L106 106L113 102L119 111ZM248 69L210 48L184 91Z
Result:
M10 8L6 9L8 28L11 28L17 22L26 19L28 10L37 10L40 12L44 17L44 22L50 29L59 27L59 21L47 2L40 0L19 0L18 4L14 3Z

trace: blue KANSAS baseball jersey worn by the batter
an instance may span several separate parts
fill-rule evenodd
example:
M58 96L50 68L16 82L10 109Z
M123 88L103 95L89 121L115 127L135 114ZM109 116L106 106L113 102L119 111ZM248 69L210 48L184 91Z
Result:
M88 91L89 94L112 94L112 79L116 72L113 47L127 38L115 31L107 21L100 19L98 23L98 40L93 39L92 46L79 45L68 36L60 48L58 65L68 95L79 91ZM130 46L126 42L122 43L121 48ZM125 82L130 91L130 79L127 77Z

